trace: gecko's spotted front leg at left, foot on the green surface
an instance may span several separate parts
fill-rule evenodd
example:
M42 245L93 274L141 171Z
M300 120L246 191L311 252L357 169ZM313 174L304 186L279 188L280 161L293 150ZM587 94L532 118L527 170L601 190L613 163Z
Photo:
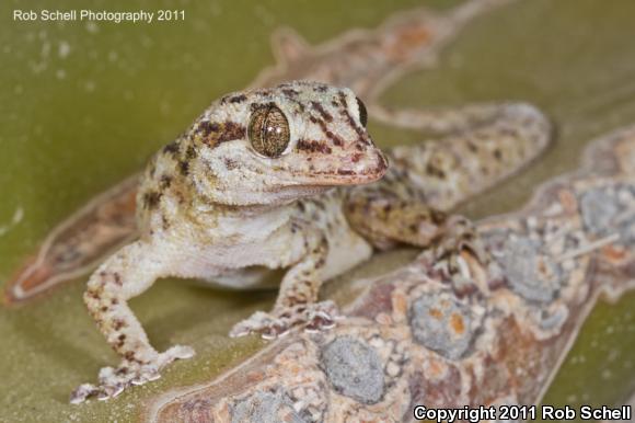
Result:
M71 395L72 403L90 397L101 400L116 397L126 387L143 385L160 377L160 370L175 359L189 358L194 351L175 345L157 352L127 301L147 290L154 281L166 276L168 262L152 244L137 241L108 259L91 276L84 302L108 344L123 358L116 367L104 367L99 384L84 384Z

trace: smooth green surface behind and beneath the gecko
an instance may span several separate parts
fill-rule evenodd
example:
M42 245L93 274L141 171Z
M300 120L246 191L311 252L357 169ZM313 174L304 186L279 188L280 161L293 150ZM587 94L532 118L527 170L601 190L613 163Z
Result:
M393 10L420 1L91 2L94 10L186 11L185 22L150 25L11 18L13 8L86 3L0 4L0 228L23 213L18 225L0 231L0 281L60 219L139 169L212 99L244 87L270 65L268 35L278 25L315 43L351 26L373 27ZM385 102L426 106L511 99L543 107L556 122L557 145L529 171L464 208L473 217L512 210L538 183L575 169L586 141L635 123L634 15L631 0L511 4L472 24L437 69L405 77ZM417 139L377 125L371 129L381 145ZM365 273L382 263L395 260L376 262ZM68 395L77 385L116 364L81 304L82 281L18 310L0 309L0 421L135 420L143 398L207 380L262 345L226 333L240 318L268 308L275 296L158 283L132 301L135 311L158 348L190 344L196 358L114 401L72 407ZM635 389L634 308L630 295L593 312L545 403L616 403Z

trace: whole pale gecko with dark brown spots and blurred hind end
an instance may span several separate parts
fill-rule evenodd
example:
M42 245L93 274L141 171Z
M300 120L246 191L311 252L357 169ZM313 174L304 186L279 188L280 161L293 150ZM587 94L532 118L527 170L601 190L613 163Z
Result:
M228 94L149 161L137 194L140 237L90 277L84 302L122 357L99 384L71 395L108 399L160 377L194 351L158 352L128 301L159 277L257 285L286 268L269 312L239 322L232 336L280 336L332 327L322 283L400 244L430 249L452 266L459 252L488 260L470 222L443 210L518 171L544 150L550 123L534 106L463 108L448 135L382 152L353 91L292 81ZM389 165L390 163L390 165Z

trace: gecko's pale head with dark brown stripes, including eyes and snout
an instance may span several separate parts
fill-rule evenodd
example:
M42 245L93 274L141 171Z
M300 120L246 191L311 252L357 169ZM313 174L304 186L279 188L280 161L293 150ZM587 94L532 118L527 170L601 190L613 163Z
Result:
M385 156L348 89L295 81L223 96L194 124L190 176L212 201L275 204L379 180Z

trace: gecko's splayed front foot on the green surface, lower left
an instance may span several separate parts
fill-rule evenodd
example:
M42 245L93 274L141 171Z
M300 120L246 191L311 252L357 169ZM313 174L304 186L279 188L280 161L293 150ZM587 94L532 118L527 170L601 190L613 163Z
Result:
M72 404L79 404L86 399L96 397L104 401L117 397L129 386L143 385L161 377L160 370L176 359L185 359L194 356L194 350L189 346L175 345L158 355L152 363L139 364L124 361L117 368L103 367L100 370L99 384L80 385L70 396Z

